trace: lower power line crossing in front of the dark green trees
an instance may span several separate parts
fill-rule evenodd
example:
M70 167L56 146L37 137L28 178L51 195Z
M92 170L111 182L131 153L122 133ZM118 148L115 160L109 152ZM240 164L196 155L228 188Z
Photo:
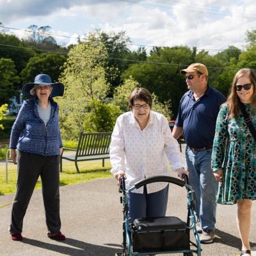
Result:
M10 47L13 50L24 49L26 51L42 51L46 53L52 54L61 54L61 55L68 55L68 52L61 52L61 51L51 51L51 50L43 50L43 49L35 49L29 47L22 47L17 45L8 45L8 44L0 44L3 47ZM90 56L81 56L81 55L73 55L77 58L91 58ZM134 62L134 63L145 63L145 64L152 64L152 65L169 65L169 66L176 66L176 67L188 67L188 64L178 64L178 63L168 63L168 62L157 62L157 61L140 61L140 60L130 60L130 59L123 59L123 58L114 58L114 57L107 57L109 60L120 60L120 61L127 61L127 62ZM238 68L227 68L227 67L207 67L212 69L220 69L220 70L237 70Z

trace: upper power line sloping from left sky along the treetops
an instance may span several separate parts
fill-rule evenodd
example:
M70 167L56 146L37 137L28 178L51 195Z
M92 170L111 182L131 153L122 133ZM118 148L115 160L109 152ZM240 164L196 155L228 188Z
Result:
M123 1L123 0L120 0ZM24 31L24 32L29 32L29 33L38 33L40 35L49 35L49 36L60 36L60 37L65 37L65 38L71 38L71 39L77 39L77 40L85 40L88 41L87 38L82 38L81 36L65 36L65 35L60 35L60 34L53 34L53 33L45 33L45 32L40 32L40 31L31 31L31 30L27 30L27 29L19 29L19 28L10 28L10 27L6 27L6 26L0 26L0 28L5 28L5 29L13 29L13 30L18 30L18 31ZM126 45L131 45L131 46L139 46L139 47L150 47L150 48L154 48L154 47L168 47L168 46L157 46L157 45L142 45L142 44L131 44L131 43L126 43ZM225 49L200 49L198 47L196 47L196 49L198 49L199 51L224 51ZM241 50L244 51L244 50Z

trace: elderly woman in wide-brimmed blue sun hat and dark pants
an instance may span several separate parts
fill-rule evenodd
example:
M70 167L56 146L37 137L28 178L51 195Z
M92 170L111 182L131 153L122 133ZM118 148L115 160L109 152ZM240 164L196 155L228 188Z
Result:
M62 150L58 105L52 97L62 96L62 83L52 83L51 77L39 74L34 83L25 84L24 95L31 96L20 108L10 138L10 157L18 163L17 192L12 207L11 238L22 240L22 225L29 200L38 177L46 215L47 236L65 240L60 221L59 163ZM18 154L16 155L16 148Z

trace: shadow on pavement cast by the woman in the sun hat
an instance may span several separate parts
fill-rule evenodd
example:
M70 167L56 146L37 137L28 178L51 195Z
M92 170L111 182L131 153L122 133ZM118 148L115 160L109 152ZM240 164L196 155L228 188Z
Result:
M29 239L24 237L21 243L30 244L32 246L37 246L40 248L44 248L46 250L50 250L53 252L58 252L63 255L71 255L71 256L95 256L95 255L102 255L102 256L113 256L116 252L119 252L120 249L118 248L109 248L107 246L100 246L97 244L89 244L84 243L83 241L79 241L76 239L67 238L65 241L59 241L59 244L50 244L45 243L42 241L38 241L35 239ZM64 244L70 245L65 246ZM115 246L115 244L113 244Z

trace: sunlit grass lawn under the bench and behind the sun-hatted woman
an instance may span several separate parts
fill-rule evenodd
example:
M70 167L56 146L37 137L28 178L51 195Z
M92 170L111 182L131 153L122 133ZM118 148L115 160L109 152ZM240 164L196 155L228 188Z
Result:
M80 162L79 170L81 173L76 172L74 162L64 161L63 172L60 173L60 186L86 182L93 179L106 179L113 177L109 172L111 165L109 160L105 159L105 167L102 167L102 161L86 161ZM0 195L11 194L16 191L17 182L17 164L8 164L8 184L6 184L5 165L0 166ZM41 188L40 178L36 182L36 189Z

